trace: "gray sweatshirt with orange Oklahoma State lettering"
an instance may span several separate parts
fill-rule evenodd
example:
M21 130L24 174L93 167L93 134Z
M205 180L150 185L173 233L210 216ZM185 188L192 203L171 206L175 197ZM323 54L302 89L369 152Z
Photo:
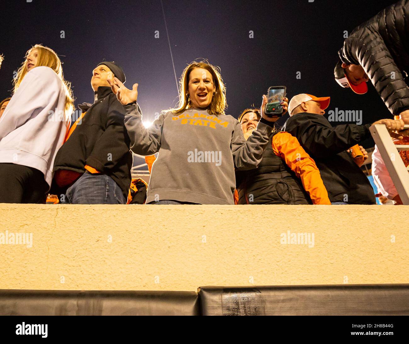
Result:
M146 203L173 199L199 204L234 204L234 170L260 163L272 128L258 123L247 141L229 115L211 116L189 109L161 114L149 128L136 104L124 106L130 149L140 155L159 152L153 164Z

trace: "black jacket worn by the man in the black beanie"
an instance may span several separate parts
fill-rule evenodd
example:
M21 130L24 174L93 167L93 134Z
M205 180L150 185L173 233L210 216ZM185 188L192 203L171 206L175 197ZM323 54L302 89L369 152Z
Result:
M71 136L58 150L54 172L85 172L90 165L110 176L128 197L133 157L130 139L124 124L124 107L110 87L98 87L94 104L79 105L86 112Z

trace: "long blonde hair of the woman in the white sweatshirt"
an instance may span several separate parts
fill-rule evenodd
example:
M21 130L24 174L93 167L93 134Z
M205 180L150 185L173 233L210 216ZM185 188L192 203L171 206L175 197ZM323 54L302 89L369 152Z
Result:
M37 59L37 65L36 67L40 66L45 66L45 67L50 67L55 73L58 75L58 77L61 79L61 81L64 84L64 89L65 89L65 118L69 118L74 111L74 97L72 95L71 91L71 83L68 81L64 80L63 76L63 67L61 65L61 60L57 56L54 50L44 47L43 45L36 44L34 47L29 49L25 55L25 60L21 64L21 67L17 71L17 76L13 80L14 88L13 88L13 93L16 93L18 87L20 87L20 84L23 80L23 78L27 74L27 56L29 56L30 52L33 49L38 50L38 59Z

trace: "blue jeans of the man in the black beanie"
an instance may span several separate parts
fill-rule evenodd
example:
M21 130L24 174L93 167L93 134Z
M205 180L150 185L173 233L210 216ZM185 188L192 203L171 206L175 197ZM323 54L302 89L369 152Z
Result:
M106 174L85 172L66 192L70 204L125 204L118 184Z

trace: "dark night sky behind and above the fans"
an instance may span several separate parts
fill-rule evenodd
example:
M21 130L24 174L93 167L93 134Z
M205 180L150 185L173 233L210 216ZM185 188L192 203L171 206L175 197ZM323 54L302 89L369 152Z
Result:
M391 114L371 82L365 95L335 82L337 51L345 30L351 32L394 2L163 0L163 6L177 78L197 58L219 66L227 87L226 114L237 118L253 103L259 107L268 87L285 85L288 98L330 96L327 112L335 107L362 110L365 124ZM0 18L1 99L9 96L13 71L27 49L43 44L63 61L76 105L93 102L92 69L103 59L123 67L129 88L139 83L144 120L153 121L155 113L178 100L160 0L13 0L2 6Z

